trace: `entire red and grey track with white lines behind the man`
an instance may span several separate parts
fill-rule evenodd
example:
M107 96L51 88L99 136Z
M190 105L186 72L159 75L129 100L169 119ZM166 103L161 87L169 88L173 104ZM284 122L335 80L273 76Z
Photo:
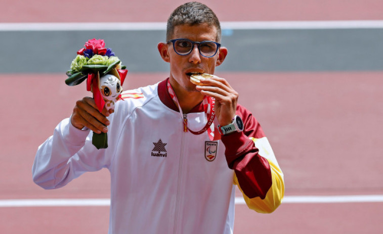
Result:
M64 83L84 42L105 39L129 69L124 89L163 80L168 64L156 45L168 15L185 2L0 2L0 226L5 233L106 233L108 172L44 191L31 180L34 154L89 95ZM383 2L202 3L222 22L229 50L217 74L260 121L285 175L286 197L274 213L257 214L238 200L234 233L382 233Z

